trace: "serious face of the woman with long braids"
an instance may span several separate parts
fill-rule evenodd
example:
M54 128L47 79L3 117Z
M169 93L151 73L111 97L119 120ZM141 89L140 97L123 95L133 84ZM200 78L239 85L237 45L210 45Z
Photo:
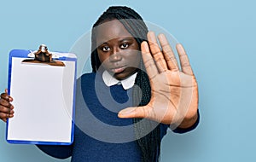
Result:
M137 71L141 55L139 45L119 20L111 20L96 28L97 52L102 66L119 80Z

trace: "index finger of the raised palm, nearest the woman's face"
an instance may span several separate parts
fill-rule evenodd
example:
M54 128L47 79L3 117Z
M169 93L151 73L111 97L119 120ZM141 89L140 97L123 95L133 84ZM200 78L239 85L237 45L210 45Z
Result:
M146 67L146 71L148 73L149 78L154 78L158 74L157 67L154 64L154 60L152 55L150 54L148 43L143 42L141 44L142 47L142 55L143 55L143 62Z

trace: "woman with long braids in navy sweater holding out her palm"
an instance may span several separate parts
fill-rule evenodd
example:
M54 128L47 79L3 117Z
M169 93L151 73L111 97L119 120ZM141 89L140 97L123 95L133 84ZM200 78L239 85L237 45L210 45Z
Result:
M199 122L198 92L188 57L177 44L180 71L165 36L158 38L162 51L137 12L107 9L92 28L93 72L77 81L74 142L38 148L79 162L159 161L168 127L193 130ZM14 116L12 100L1 95L3 121Z

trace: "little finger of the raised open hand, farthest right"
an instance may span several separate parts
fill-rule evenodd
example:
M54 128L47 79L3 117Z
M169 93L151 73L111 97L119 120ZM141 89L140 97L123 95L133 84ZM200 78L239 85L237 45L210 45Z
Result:
M176 49L177 49L177 54L179 56L182 71L186 74L193 75L192 68L190 67L190 64L189 64L189 57L186 54L186 51L183 48L183 45L180 43L177 43Z

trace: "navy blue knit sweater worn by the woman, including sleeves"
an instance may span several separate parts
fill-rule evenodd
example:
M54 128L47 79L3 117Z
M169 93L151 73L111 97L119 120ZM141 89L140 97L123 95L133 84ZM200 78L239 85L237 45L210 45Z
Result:
M77 80L74 142L70 146L38 145L44 153L58 159L72 156L73 162L141 161L141 151L135 141L132 119L119 119L117 113L131 107L131 91L122 85L107 87L95 72ZM175 132L183 133L191 128ZM161 138L168 125L160 124Z

